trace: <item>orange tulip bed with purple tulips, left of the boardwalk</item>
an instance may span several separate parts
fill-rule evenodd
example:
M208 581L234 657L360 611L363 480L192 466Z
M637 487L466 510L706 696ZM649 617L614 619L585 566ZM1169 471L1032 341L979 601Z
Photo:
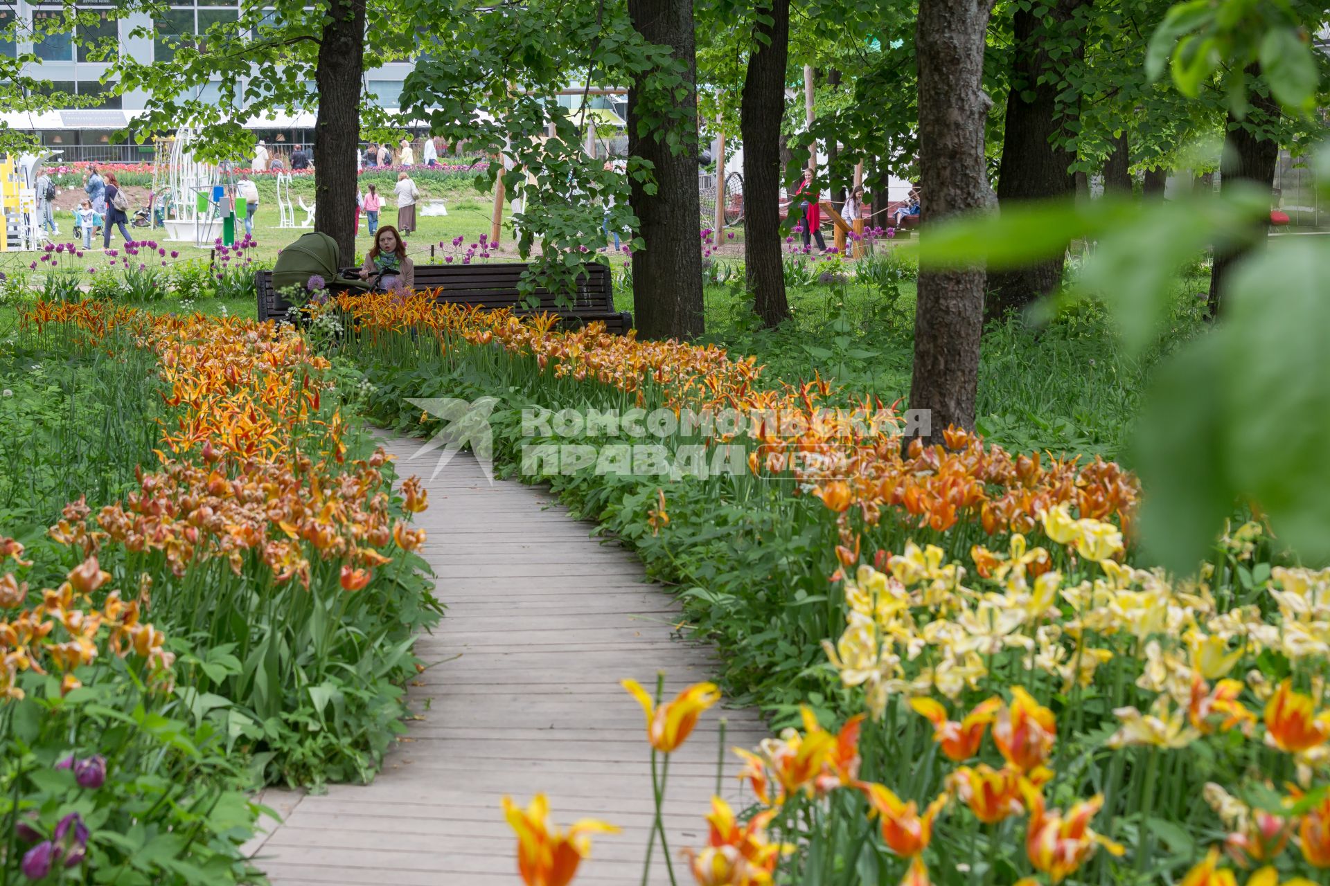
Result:
M290 329L41 303L15 347L8 365L73 367L45 393L102 445L138 436L114 457L73 428L37 440L104 480L96 499L56 505L60 477L7 487L3 879L249 882L245 789L367 778L402 731L414 635L439 615L412 553L424 494L394 495L335 372ZM90 372L132 383L141 414L97 402ZM19 417L41 421L33 388Z

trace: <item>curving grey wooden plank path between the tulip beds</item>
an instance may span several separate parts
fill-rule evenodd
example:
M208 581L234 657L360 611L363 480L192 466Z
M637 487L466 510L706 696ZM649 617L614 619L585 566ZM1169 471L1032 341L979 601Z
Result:
M254 863L274 886L520 885L516 837L500 806L549 797L551 822L601 818L620 834L592 838L576 883L641 881L652 822L645 720L618 681L665 693L710 679L714 652L680 638L678 606L644 583L626 550L591 538L548 490L485 480L469 453L428 480L438 452L418 440L386 442L402 476L418 474L430 509L422 554L448 610L416 648L439 662L410 687L418 717L370 785L307 796L266 792L285 822L255 840ZM734 777L730 745L767 735L753 711L706 711L673 754L665 801L674 873L693 882L678 851L706 843L720 720L729 723L725 796L751 802ZM660 846L652 883L668 883Z

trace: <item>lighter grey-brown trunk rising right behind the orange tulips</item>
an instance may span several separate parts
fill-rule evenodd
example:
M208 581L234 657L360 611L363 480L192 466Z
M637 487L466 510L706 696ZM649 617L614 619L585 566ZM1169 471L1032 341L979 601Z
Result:
M983 90L984 39L991 0L919 0L919 170L930 224L974 211L988 198ZM974 429L979 339L984 325L984 271L919 275L910 408L928 410L926 442L948 425Z

